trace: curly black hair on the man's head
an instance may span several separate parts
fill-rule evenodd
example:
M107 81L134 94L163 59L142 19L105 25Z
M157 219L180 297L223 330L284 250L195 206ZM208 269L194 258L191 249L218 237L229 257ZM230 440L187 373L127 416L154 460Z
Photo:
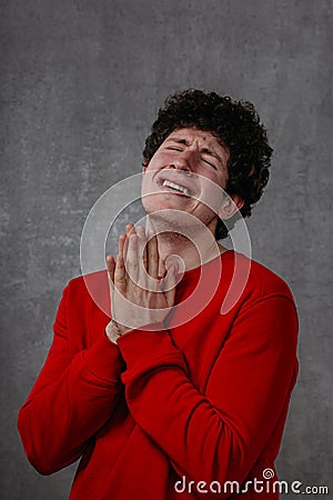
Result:
M225 191L229 196L243 198L240 212L243 217L250 217L253 203L261 198L269 181L273 152L254 106L249 101L234 101L229 96L196 89L170 96L159 110L151 134L145 140L143 164L148 164L173 130L182 128L209 131L229 150ZM215 239L226 238L236 219L236 216L230 219L226 227L219 218Z

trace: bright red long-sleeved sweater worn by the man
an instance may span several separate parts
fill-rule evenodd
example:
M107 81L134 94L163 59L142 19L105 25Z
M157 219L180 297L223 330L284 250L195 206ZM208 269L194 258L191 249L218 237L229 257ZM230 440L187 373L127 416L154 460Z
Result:
M132 330L118 346L83 278L64 289L19 431L41 473L82 457L71 500L225 499L225 481L243 483L242 499L279 497L244 482L274 469L297 373L297 314L286 283L255 261L241 297L221 314L234 254L185 272L176 303L188 298L194 316L222 262L216 293L196 317L176 326L179 308L162 330ZM200 271L203 288L192 293ZM108 302L107 273L90 280Z

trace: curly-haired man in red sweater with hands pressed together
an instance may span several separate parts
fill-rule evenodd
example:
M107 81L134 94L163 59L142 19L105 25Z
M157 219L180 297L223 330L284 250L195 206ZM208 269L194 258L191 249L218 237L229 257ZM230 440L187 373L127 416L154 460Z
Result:
M216 243L251 214L271 153L250 103L188 90L160 110L143 151L148 226L127 227L90 292L70 281L19 414L41 473L81 457L71 499L279 497L296 310L281 278ZM250 272L221 313L236 260Z

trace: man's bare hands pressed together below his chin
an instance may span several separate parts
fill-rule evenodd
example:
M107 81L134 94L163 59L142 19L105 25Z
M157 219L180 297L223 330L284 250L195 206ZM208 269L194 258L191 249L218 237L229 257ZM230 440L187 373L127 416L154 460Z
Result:
M165 262L152 231L128 224L127 234L119 237L117 259L107 258L107 269L112 321L120 334L165 319L174 304L178 264L170 263L164 277Z

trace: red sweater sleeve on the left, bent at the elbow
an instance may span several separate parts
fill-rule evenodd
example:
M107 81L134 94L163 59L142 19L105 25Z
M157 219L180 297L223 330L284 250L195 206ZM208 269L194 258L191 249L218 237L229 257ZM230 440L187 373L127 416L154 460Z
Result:
M18 418L27 457L43 474L82 454L110 418L122 388L119 348L104 332L88 349L71 353L69 338L78 331L69 331L69 288L58 309L48 358Z

